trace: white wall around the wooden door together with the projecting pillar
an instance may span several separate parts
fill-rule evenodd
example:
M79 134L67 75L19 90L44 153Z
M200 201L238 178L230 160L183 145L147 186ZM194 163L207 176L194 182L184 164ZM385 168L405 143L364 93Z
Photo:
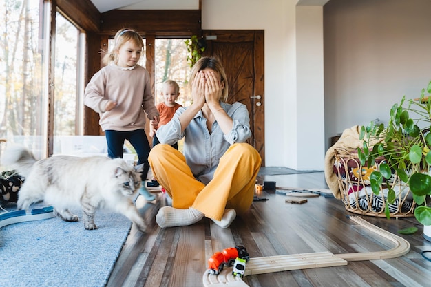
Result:
M323 170L323 11L296 3L203 0L202 29L264 30L265 164Z

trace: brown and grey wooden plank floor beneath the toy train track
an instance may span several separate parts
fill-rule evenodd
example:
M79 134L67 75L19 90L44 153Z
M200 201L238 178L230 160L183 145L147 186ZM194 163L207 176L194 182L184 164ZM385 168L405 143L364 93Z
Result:
M323 172L262 176L277 187L327 189ZM207 260L216 251L243 245L250 257L330 252L383 251L394 246L349 220L344 204L334 198L307 198L304 204L286 203L286 195L262 191L266 201L253 202L243 217L222 229L204 218L193 226L159 228L154 217L169 198L158 194L156 202L138 198L136 205L149 224L149 233L132 226L107 286L202 286ZM431 250L423 228L414 218L363 217L391 233L417 226L414 235L401 235L411 244L408 254L395 259L348 262L347 266L311 268L244 277L255 287L277 286L431 286L431 262L421 251Z

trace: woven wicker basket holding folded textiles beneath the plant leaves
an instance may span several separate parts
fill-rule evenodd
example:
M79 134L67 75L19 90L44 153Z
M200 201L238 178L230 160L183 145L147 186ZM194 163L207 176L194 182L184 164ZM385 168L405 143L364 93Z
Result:
M375 217L386 217L385 206L388 187L396 193L396 199L390 204L390 217L413 217L414 201L408 186L393 176L388 182L383 182L379 195L375 195L370 187L369 176L372 171L379 171L376 161L373 167L362 167L355 152L335 149L334 172L337 174L341 200L347 211Z

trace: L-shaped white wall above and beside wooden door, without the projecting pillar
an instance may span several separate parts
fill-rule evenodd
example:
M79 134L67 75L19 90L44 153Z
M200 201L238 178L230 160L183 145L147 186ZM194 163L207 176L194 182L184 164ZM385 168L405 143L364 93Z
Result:
M264 30L266 166L286 166L286 77L283 0L202 0L202 29ZM294 13L294 10L293 10ZM294 23L295 19L289 22ZM295 92L295 91L293 91ZM294 109L294 107L291 107ZM280 140L281 139L281 140Z

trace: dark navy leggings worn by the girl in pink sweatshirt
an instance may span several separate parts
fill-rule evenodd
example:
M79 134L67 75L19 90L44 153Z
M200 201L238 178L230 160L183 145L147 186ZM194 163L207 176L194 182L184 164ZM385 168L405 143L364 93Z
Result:
M144 129L136 129L134 131L105 131L106 142L108 147L109 158L123 158L124 141L129 140L130 144L135 148L138 154L138 164L143 163L143 173L140 178L147 180L149 171L148 155L149 142Z

